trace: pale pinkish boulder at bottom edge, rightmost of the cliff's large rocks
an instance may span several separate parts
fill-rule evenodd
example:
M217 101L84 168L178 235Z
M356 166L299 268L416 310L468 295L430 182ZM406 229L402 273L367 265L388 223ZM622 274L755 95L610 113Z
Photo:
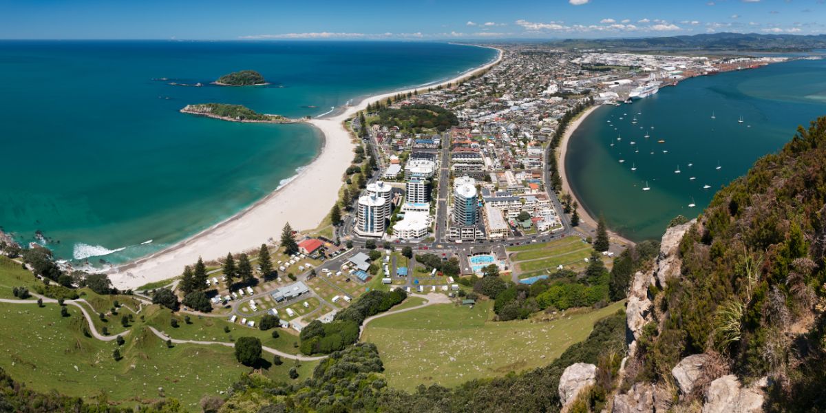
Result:
M751 413L762 411L763 392L757 387L743 387L737 376L729 374L711 382L705 391L703 413Z

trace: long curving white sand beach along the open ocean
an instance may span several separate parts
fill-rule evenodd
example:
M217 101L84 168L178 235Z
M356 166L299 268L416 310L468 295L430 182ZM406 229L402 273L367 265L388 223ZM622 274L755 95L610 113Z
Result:
M498 49L497 49L498 50ZM439 84L455 83L498 64L502 50L491 63L472 69L456 78ZM185 265L204 260L219 259L226 253L238 253L258 248L263 243L278 240L287 222L296 230L316 228L330 208L338 201L344 170L353 160L354 143L344 128L344 121L363 110L368 103L386 100L397 93L426 91L436 84L403 91L383 93L363 99L358 104L344 107L330 117L311 119L308 123L324 134L324 147L315 160L290 183L225 221L193 235L155 254L126 263L108 272L114 287L136 288L180 275Z

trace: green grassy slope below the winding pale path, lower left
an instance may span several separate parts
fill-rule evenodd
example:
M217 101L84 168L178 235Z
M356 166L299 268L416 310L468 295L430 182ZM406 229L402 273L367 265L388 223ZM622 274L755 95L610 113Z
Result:
M249 372L235 361L233 349L217 345L178 344L168 349L149 330L138 328L126 335L123 358L115 361L115 343L104 343L81 333L80 311L68 306L69 317L59 316L59 306L0 304L0 367L19 382L40 392L59 390L70 396L96 398L131 406L161 396L181 400L189 410L200 411L197 401L206 394L224 392L240 374ZM268 355L268 360L272 358ZM289 381L294 365L285 360L267 374ZM309 377L316 363L302 363L300 377Z

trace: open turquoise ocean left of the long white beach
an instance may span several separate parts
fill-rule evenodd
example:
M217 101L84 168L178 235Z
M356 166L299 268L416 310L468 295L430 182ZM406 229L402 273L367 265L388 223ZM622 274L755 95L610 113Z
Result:
M310 126L216 121L181 107L317 116L495 55L438 43L0 41L0 226L23 242L42 231L62 259L150 254L264 197L322 145ZM208 84L240 69L273 84Z

